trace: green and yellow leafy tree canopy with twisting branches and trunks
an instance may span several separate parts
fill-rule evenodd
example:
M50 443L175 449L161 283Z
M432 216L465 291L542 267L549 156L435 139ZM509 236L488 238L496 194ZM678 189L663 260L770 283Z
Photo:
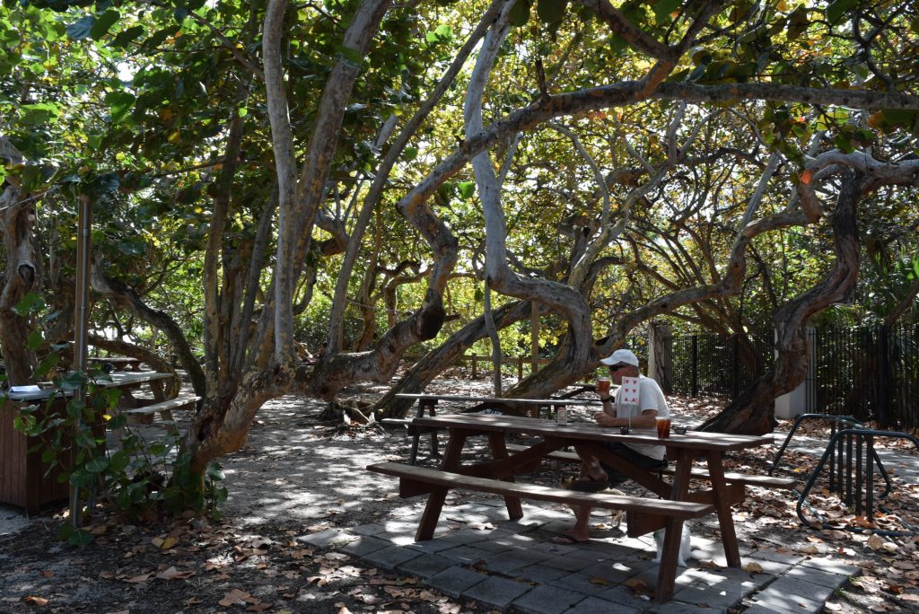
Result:
M516 395L654 319L775 328L711 425L765 432L803 324L916 313L911 2L24 0L0 40L9 377L72 337L89 199L95 342L179 359L198 472L270 398L423 348L418 390L533 317L552 360Z

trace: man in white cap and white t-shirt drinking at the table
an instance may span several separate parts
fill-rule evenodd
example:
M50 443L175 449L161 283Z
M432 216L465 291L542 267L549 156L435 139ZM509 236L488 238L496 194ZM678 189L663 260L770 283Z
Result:
M633 352L628 349L618 349L609 358L603 358L600 362L609 367L609 376L618 386L621 386L624 377L639 379L639 403L618 406L613 403L612 396L601 396L603 411L594 415L598 425L628 426L633 431L652 432L656 427L657 416L670 415L664 392L661 391L656 381L639 373L638 357ZM617 415L617 408L619 415ZM627 410L630 412L627 413ZM664 446L645 446L618 441L604 445L631 464L644 469L657 469L667 464L667 461L664 460ZM569 485L569 488L597 493L628 480L627 476L612 467L595 458L590 458L584 459L581 465L581 475ZM588 523L591 509L588 506L574 506L574 527L567 533L552 538L552 541L560 544L573 544L589 540Z

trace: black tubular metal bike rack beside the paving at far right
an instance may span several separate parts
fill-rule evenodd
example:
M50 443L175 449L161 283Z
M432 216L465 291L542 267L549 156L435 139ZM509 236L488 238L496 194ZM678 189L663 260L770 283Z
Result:
M802 416L801 416L802 417ZM797 426L797 423L796 423ZM793 431L792 431L793 432ZM790 435L789 435L790 437ZM871 533L878 533L879 535L917 535L919 530L912 531L892 531L885 529L865 529L861 527L839 527L832 523L827 522L821 517L820 513L813 508L807 502L807 495L811 492L814 483L817 482L817 478L820 477L821 472L823 471L824 466L830 464L831 478L834 475L834 470L838 465L838 485L837 492L840 493L845 506L851 507L853 503L855 504L855 513L857 516L865 516L868 518L868 521L874 519L874 469L873 464L877 464L881 472L881 475L884 476L884 480L887 482L887 488L879 498L883 498L891 493L891 478L887 475L887 472L884 471L883 465L880 463L877 450L874 449L874 440L875 438L898 438L898 439L909 439L913 442L916 449L919 449L919 439L914 438L912 435L906 433L900 433L897 431L879 431L872 430L869 428L845 428L835 433L833 437L830 438L830 442L826 446L826 450L823 452L823 457L820 462L817 463L817 467L811 472L811 477L808 482L804 485L804 489L801 491L801 494L798 497L798 505L796 510L798 512L798 517L800 521L807 526L813 526L813 523L804 517L801 507L807 506L808 510L818 518L820 527L822 529L841 529L841 530L850 530L856 532L865 532L869 531ZM788 441L786 441L788 443ZM853 456L853 444L855 445L855 455ZM782 447L784 449L784 446ZM781 450L779 450L781 452ZM838 452L838 459L834 461L834 457ZM778 459L778 457L777 457ZM855 493L853 493L853 460L855 460ZM864 466L868 465L868 471L864 471ZM775 468L775 464L773 466ZM770 474L772 471L770 470ZM845 480L845 484L844 484ZM864 484L865 488L865 503L862 503L862 486ZM831 486L831 490L833 490ZM867 508L867 509L866 509ZM882 509L882 508L881 508Z

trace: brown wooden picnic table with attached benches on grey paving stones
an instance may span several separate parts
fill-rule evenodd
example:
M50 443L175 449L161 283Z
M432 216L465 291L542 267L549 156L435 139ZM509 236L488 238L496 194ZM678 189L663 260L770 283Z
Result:
M425 512L418 525L415 540L429 540L434 536L437 520L451 489L504 495L505 506L511 519L523 516L521 498L624 509L627 512L630 537L665 529L664 548L655 591L655 598L661 603L673 597L683 523L687 518L716 514L727 563L732 567L741 566L731 506L743 502L745 487L743 481L725 478L722 459L725 452L755 448L773 442L771 436L750 437L698 431L690 431L686 435L672 434L668 439L660 439L656 433L645 433L635 429L623 435L618 428L606 428L596 424L561 425L550 420L510 415L423 416L415 418L413 423L416 426L449 431L449 440L440 469L432 470L401 463L380 463L371 465L368 469L400 477L400 494L403 496L427 495ZM467 439L480 435L488 437L492 458L464 463L460 455ZM508 435L528 435L540 439L522 449L516 446L514 453L509 453L505 444L505 437ZM662 472L642 469L620 458L603 445L607 442L664 445L667 449L667 458L675 461L672 482L665 481ZM584 494L515 482L516 476L531 472L534 463L548 458L552 452L569 446L577 450L582 457L593 456L603 460L660 498ZM697 457L704 458L708 464L709 487L690 491L693 460Z

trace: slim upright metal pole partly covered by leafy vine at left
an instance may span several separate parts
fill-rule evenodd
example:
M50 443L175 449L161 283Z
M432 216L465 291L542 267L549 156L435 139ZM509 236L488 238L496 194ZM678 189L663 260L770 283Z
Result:
M76 221L76 291L74 292L74 370L86 372L86 327L89 323L89 244L92 226L89 197L80 196ZM74 391L74 402L85 398L81 386ZM74 441L80 427L80 418L74 424ZM70 519L74 527L80 526L80 491L70 487Z

